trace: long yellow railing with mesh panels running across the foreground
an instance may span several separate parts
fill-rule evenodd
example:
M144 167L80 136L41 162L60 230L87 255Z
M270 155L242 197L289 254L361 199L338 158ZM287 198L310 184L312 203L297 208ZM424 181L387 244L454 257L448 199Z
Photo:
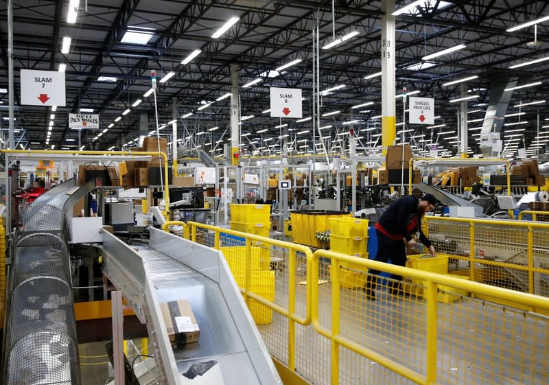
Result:
M473 227L464 223L467 231ZM196 222L186 229L189 239L224 253L252 315L250 300L279 314L257 325L259 332L271 355L310 383L546 383L549 318L522 308L548 312L548 298L327 250L313 254L306 246ZM242 251L245 280L237 279L227 248ZM253 288L255 248L269 250L272 300ZM285 269L273 261L276 255L283 255ZM297 282L302 268L305 277ZM374 277L369 269L405 277L406 295L391 294L394 281L379 277L377 299L366 299L360 288ZM356 281L349 283L350 274ZM475 298L481 296L493 301Z

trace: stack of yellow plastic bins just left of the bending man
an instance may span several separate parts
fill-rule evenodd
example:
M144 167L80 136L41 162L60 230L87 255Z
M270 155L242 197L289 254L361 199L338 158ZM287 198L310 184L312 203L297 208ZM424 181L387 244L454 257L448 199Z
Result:
M355 257L368 258L368 220L330 218L330 250ZM331 266L330 266L331 269ZM340 284L343 288L360 288L366 283L366 269L341 263Z

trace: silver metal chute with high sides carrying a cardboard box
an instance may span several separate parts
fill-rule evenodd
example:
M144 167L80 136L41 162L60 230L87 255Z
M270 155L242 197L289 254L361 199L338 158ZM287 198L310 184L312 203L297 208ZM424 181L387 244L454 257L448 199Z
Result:
M146 322L166 384L191 384L191 365L212 361L216 384L282 384L221 253L156 229L137 250L104 233L104 250L104 271ZM172 349L159 303L179 299L191 304L200 340Z

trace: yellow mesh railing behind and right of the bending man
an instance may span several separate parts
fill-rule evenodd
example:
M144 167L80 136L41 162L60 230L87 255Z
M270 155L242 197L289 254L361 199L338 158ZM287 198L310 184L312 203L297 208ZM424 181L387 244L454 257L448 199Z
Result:
M471 280L549 296L549 223L425 216L439 253ZM461 262L460 262L461 261Z

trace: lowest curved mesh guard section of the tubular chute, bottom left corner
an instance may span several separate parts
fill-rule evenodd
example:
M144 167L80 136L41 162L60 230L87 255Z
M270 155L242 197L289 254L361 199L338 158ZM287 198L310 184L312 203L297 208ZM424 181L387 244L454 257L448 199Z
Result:
M21 338L8 355L5 385L78 385L78 351L65 334L41 331Z

